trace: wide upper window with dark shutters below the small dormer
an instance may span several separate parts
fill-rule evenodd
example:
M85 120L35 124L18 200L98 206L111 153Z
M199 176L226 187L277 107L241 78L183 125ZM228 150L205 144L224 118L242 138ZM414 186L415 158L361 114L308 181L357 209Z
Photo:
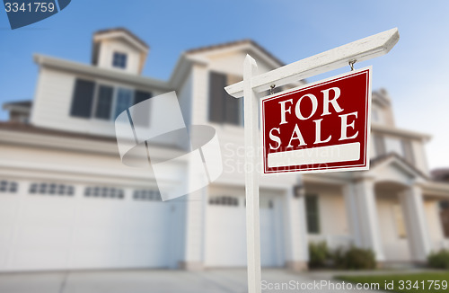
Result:
M149 92L76 79L70 115L79 118L115 120L122 111L152 96L153 94Z

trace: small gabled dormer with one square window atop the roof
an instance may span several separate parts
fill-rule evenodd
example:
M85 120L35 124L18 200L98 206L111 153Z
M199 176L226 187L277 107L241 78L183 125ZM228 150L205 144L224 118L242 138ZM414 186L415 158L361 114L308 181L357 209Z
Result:
M92 40L92 65L140 75L149 49L127 29L97 31Z

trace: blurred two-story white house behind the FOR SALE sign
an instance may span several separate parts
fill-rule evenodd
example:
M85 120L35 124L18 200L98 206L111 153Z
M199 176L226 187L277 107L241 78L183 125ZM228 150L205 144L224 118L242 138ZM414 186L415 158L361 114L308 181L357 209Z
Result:
M97 31L92 64L35 55L32 101L9 102L0 123L0 271L118 268L201 270L246 265L242 79L250 53L260 73L282 62L251 40L188 50L172 76L141 75L149 46L125 29ZM290 87L305 84L298 81ZM277 89L282 90L282 89ZM189 173L121 164L114 119L129 106L176 91L186 125L216 129L224 173L207 188L162 202L157 184ZM373 93L366 172L286 174L260 182L261 263L303 270L308 243L357 245L379 263L422 263L447 246L431 180L427 134L394 125L388 93ZM179 152L154 146L161 157Z

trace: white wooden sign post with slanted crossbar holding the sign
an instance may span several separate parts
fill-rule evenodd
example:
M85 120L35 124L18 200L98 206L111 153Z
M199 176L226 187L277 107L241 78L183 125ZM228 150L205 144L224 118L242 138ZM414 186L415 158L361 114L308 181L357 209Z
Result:
M243 81L225 87L234 98L244 96L246 234L248 253L248 292L261 292L260 271L260 211L259 176L256 170L260 158L259 101L257 93L269 90L272 84L281 86L321 73L365 61L388 53L399 40L397 28L383 31L362 40L330 49L284 67L254 76L256 61L247 55Z

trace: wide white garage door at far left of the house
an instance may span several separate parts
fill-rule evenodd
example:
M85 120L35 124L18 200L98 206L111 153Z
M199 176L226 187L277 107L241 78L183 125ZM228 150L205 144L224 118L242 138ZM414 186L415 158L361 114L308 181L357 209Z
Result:
M169 216L157 191L3 181L0 271L166 267Z

